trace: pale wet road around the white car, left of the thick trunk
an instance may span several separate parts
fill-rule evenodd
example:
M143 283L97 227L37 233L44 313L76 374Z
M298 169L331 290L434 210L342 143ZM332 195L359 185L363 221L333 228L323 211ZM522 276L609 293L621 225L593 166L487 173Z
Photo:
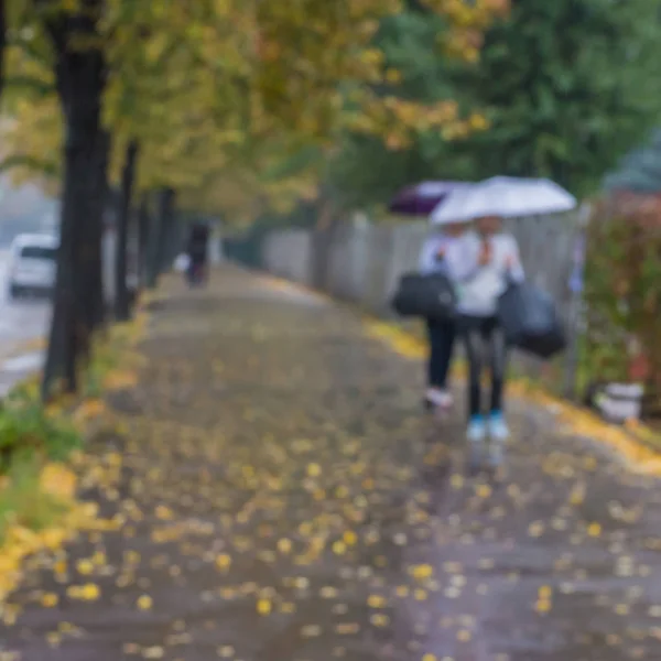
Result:
M7 252L0 252L0 397L40 369L43 351L39 340L44 337L51 305L44 299L12 301L7 294Z

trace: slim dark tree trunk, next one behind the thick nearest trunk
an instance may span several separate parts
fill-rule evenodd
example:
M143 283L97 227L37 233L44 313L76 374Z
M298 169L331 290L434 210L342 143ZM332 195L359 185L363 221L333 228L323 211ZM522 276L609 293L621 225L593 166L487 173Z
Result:
M138 142L131 140L127 147L121 175L121 196L117 215L117 247L115 252L115 318L126 322L131 314L131 296L127 286L127 247L129 238L129 218L131 196L136 178Z

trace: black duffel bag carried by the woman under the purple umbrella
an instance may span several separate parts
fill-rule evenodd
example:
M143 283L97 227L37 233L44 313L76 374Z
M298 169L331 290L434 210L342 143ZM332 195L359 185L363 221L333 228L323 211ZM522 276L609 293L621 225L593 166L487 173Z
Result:
M392 297L401 316L448 321L455 316L457 296L452 281L442 273L404 273Z

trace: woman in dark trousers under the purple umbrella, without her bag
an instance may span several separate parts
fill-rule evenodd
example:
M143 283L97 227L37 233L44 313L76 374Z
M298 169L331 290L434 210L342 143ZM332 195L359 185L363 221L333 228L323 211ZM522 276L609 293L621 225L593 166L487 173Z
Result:
M445 254L449 246L466 230L466 225L445 225L434 228L422 246L420 272L423 274L445 273ZM424 404L427 410L448 409L454 403L447 386L456 327L454 321L426 319L430 353L427 359L427 389Z

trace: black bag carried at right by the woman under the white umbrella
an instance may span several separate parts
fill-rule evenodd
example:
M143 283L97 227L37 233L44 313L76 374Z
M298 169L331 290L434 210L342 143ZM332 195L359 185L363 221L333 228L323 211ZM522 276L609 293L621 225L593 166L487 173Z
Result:
M498 300L498 318L507 342L538 358L551 358L566 347L553 299L528 282L509 285Z

